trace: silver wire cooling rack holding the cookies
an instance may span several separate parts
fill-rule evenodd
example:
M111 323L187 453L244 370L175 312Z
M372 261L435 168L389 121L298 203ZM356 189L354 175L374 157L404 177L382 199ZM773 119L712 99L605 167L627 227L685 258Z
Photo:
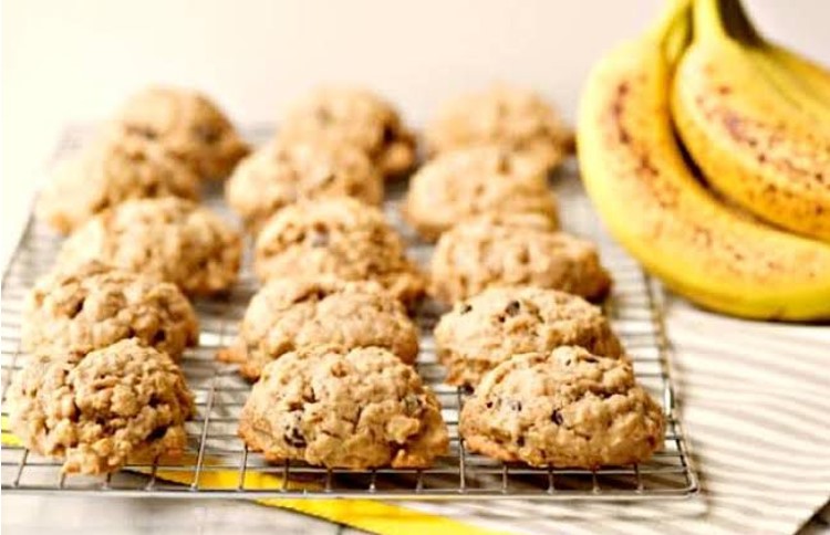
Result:
M253 141L264 140L268 127L248 130ZM76 150L86 129L71 128L56 158ZM428 304L419 314L422 352L417 369L443 406L449 427L450 453L426 470L326 470L303 463L268 464L249 452L236 436L237 420L250 386L235 368L215 361L220 347L234 338L250 296L257 289L249 259L239 284L230 295L195 303L201 323L199 345L185 354L181 367L196 395L197 416L187 424L188 451L176 463L156 460L131 464L107 476L65 476L61 463L14 445L6 429L3 410L3 492L92 493L133 496L215 497L362 497L362 499L547 499L621 500L684 497L694 494L697 478L691 465L687 441L677 417L670 377L668 346L663 325L661 293L639 265L603 233L573 172L556 180L566 228L600 244L604 264L614 279L605 310L613 327L633 356L640 384L655 397L667 419L664 449L646 463L595 471L531 469L467 452L458 438L458 412L468 392L444 385L443 368L435 360L432 327L437 318ZM409 252L422 264L430 246L418 243L400 221L396 204L404 185L392 186L386 212L411 243ZM206 203L234 220L222 204L218 187L207 192ZM51 270L60 238L30 219L2 280L2 396L12 376L25 361L20 352L22 303L38 276Z

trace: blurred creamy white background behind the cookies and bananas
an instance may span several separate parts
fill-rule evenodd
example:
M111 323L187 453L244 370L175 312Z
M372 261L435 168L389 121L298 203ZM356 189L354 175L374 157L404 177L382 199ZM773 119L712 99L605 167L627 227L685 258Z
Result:
M830 62L830 1L747 1L766 33ZM311 85L353 82L421 123L443 98L504 80L542 91L572 118L591 64L662 3L6 0L3 228L24 213L61 127L105 116L142 85L201 88L247 122L274 119Z

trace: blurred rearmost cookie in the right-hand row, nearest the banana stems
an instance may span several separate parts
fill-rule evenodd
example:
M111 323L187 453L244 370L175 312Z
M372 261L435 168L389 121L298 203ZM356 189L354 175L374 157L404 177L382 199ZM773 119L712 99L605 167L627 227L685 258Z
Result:
M425 132L429 153L501 145L549 171L573 150L573 135L544 99L520 87L494 85L447 102Z

